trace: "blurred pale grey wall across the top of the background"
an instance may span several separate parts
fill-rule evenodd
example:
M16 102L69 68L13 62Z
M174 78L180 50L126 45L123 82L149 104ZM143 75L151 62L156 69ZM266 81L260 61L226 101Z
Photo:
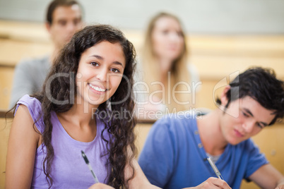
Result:
M0 0L0 19L43 22L49 0ZM87 23L142 30L170 11L189 33L284 34L283 0L81 0Z

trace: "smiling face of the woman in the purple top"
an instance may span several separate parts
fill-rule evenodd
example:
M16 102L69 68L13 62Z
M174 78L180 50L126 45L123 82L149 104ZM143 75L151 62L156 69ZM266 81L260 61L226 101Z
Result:
M81 54L76 75L77 103L99 106L119 87L126 60L122 46L107 41L95 44Z

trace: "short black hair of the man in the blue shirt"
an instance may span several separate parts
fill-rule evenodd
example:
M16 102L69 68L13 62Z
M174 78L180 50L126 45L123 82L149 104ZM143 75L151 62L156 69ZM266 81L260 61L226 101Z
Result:
M273 125L278 118L284 116L284 83L276 78L276 73L272 68L254 67L249 68L244 73L239 74L230 83L230 90L226 93L228 102L244 97L252 97L265 109L273 110L275 118L269 123ZM221 104L220 99L216 102Z

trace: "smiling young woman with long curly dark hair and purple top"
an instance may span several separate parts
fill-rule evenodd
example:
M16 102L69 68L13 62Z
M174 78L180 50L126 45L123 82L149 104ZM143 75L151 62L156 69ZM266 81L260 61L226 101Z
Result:
M88 26L72 37L42 92L17 103L6 188L155 188L134 159L135 55L110 25ZM120 110L129 114L112 114ZM81 150L100 183L93 185Z

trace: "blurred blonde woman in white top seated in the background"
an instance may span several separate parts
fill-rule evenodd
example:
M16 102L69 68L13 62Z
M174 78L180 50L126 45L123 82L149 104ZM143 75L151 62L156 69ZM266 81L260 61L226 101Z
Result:
M144 112L171 113L194 106L200 83L196 68L188 63L186 41L179 18L171 13L158 13L150 20L138 73L145 82L143 90L148 90L146 99L138 98ZM141 110L138 114L145 115Z

